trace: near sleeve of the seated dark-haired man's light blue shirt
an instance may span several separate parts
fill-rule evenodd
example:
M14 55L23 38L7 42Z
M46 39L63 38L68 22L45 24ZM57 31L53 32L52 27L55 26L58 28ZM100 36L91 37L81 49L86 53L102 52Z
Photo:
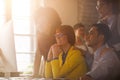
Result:
M112 57L111 57L112 58ZM112 59L109 57L109 55L105 55L102 57L96 67L93 67L93 69L87 73L87 75L90 75L94 79L104 79L106 76L108 76L109 71L113 68Z

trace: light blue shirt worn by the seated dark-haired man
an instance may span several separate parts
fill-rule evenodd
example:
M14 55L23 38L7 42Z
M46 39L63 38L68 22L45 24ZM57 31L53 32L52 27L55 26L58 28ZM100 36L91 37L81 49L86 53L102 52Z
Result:
M120 61L113 50L105 51L101 55L105 47L104 45L94 52L92 69L87 73L95 80L115 80L120 72Z

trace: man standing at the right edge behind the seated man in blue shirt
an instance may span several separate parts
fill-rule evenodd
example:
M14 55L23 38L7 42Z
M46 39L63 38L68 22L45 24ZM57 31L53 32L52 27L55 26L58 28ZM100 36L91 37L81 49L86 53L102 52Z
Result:
M114 48L120 57L120 10L119 0L97 0L96 9L99 13L99 22L108 25L111 30L111 38L108 46Z

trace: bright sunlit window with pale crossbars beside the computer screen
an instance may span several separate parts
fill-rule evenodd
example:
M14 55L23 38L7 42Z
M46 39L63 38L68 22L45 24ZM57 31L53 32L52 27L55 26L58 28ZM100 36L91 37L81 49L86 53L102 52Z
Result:
M32 24L31 0L12 0L12 19L18 71L26 71L33 63L36 38Z

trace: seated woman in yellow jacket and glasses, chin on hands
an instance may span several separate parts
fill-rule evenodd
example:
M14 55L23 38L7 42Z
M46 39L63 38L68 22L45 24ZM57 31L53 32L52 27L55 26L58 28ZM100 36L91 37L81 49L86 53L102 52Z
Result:
M68 78L76 80L87 72L81 51L74 46L75 34L69 25L56 29L56 43L49 50L45 65L46 78Z

